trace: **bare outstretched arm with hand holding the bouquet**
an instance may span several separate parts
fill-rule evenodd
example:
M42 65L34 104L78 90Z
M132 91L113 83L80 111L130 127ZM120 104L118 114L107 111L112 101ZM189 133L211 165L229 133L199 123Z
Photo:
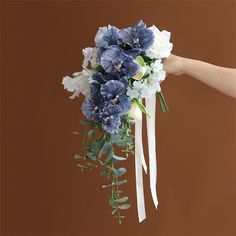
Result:
M236 98L236 69L171 54L164 60L167 74L191 76L218 91Z

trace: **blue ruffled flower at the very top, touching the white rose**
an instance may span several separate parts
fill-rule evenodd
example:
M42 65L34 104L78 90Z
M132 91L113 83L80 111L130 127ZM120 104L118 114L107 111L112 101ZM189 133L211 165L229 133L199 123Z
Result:
M154 42L152 31L146 27L143 21L139 21L135 27L120 30L119 35L122 41L132 48L147 50Z

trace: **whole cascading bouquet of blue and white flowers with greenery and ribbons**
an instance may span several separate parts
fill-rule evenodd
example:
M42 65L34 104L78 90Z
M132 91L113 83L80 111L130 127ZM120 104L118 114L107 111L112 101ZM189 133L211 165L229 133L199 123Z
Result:
M163 59L173 47L169 40L170 32L159 31L154 25L148 28L143 21L123 29L100 27L95 47L83 49L83 70L62 81L64 88L73 93L70 98L81 93L85 97L81 107L85 119L80 123L87 126L87 131L74 132L83 136L83 149L75 154L77 165L81 171L103 168L101 176L106 177L106 183L102 188L111 191L109 204L119 223L125 218L122 210L131 205L121 189L127 183L124 177L127 169L121 164L130 154L135 156L139 222L146 218L142 168L147 173L147 165L142 144L142 113L147 121L151 194L156 208L158 205L155 107L157 97L162 111L168 111L160 84L166 77Z

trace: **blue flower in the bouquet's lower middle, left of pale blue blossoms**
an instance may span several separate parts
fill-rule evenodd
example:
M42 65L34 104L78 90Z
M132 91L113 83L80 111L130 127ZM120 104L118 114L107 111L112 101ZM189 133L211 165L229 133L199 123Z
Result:
M106 84L101 85L101 94L108 104L117 105L120 108L121 115L126 114L132 105L129 98L125 95L127 85L117 81L110 80Z

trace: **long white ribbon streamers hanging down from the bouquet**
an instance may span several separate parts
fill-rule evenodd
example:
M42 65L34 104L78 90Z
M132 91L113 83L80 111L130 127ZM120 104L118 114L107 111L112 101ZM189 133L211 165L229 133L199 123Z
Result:
M148 153L149 153L149 169L150 169L150 188L152 199L157 208L158 199L156 193L156 138L155 138L155 114L156 114L156 95L146 98L146 108L150 117L146 117L147 121L147 137L148 137ZM142 100L140 100L142 103ZM142 115L135 119L135 177L136 177L136 195L139 223L146 219L144 191L143 191L143 171L147 173L147 165L143 153L142 142Z

